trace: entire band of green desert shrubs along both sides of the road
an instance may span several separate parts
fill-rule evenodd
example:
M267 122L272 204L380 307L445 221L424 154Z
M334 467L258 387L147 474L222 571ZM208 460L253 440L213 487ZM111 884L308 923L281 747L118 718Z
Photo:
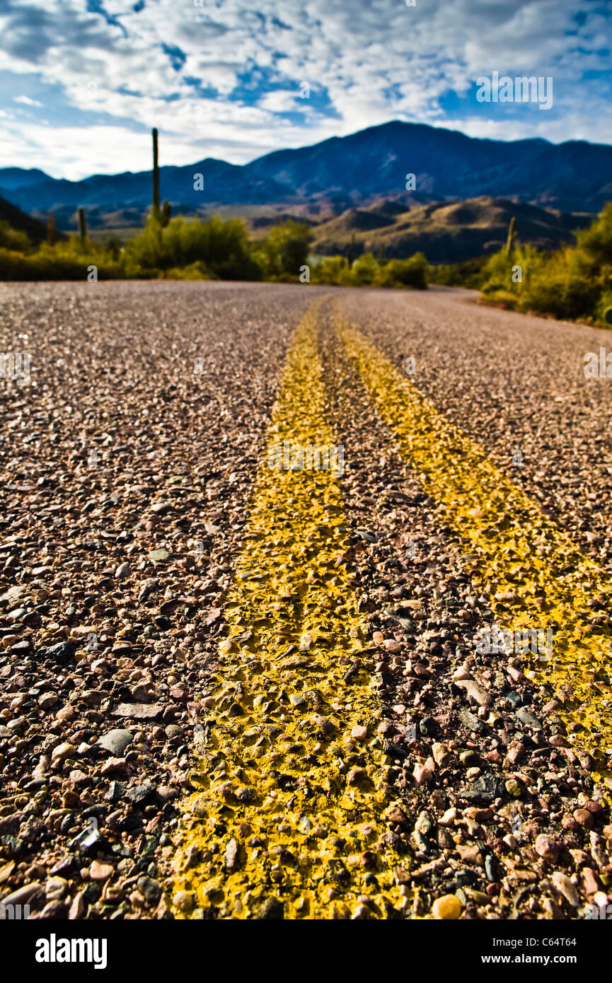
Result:
M169 209L157 209L125 246L113 237L93 242L84 216L80 223L78 236L32 243L23 229L0 221L0 279L267 280L416 290L435 283L478 289L485 303L523 313L612 321L612 203L577 233L575 246L556 252L521 246L511 223L507 245L493 256L438 265L422 253L407 260L372 253L313 258L311 228L291 219L251 238L238 218L171 218Z

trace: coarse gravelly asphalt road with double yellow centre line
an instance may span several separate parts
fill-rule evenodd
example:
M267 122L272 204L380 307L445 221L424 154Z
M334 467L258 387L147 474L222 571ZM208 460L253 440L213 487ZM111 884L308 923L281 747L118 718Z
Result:
M607 332L444 288L0 308L0 904L612 900Z

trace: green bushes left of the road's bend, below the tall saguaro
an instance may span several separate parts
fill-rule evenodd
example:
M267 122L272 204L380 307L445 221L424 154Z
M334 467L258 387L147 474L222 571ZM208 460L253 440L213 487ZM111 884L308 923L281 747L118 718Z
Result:
M350 286L427 286L421 253L409 260L375 260L366 253L309 260L309 226L287 220L265 238L251 240L238 218L208 221L151 217L140 235L120 247L93 243L87 235L34 247L26 233L0 227L3 280L180 279L272 280ZM94 273L92 273L94 270ZM306 280L307 278L307 280Z

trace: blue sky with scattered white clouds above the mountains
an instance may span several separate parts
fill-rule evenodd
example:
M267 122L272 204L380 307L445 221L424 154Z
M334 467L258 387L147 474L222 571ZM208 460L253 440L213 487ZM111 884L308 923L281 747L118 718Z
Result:
M161 164L393 119L612 142L612 0L407 2L0 0L0 167L145 170L153 126ZM551 77L551 108L479 102L494 72Z

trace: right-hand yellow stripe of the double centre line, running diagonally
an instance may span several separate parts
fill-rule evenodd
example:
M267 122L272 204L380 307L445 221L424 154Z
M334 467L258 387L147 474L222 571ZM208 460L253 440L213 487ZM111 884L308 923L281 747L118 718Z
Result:
M399 453L459 535L466 572L490 595L495 621L511 631L554 628L552 658L522 656L526 674L553 685L559 716L580 725L576 746L595 756L597 778L612 787L604 760L612 750L612 631L593 624L589 606L609 606L609 577L362 333L339 316L336 325Z

